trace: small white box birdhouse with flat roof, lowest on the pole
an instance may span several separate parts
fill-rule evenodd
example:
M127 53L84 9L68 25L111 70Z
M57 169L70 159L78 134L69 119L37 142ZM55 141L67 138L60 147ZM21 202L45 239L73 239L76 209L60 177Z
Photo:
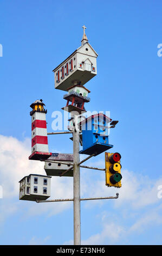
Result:
M50 197L50 176L30 174L21 179L20 200L46 200Z

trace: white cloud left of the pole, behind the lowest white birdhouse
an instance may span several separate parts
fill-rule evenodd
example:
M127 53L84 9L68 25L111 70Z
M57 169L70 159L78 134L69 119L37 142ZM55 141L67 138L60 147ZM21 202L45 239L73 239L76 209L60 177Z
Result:
M21 209L25 208L24 218L31 215L41 215L44 212L48 216L55 215L71 206L68 202L37 204L29 201L18 201L18 181L29 174L46 175L44 162L29 160L30 154L30 138L25 138L21 142L17 138L0 135L0 185L3 188L3 198L0 199L0 202L1 209L5 208L4 211L1 211L0 221L4 221L5 218L11 215L13 209L18 211L18 205L21 205ZM51 178L51 198L73 198L73 178Z

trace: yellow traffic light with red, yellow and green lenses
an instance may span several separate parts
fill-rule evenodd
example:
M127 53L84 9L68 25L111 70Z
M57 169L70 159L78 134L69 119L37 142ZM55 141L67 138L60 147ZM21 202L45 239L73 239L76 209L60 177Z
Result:
M121 187L121 155L119 153L105 153L106 186Z

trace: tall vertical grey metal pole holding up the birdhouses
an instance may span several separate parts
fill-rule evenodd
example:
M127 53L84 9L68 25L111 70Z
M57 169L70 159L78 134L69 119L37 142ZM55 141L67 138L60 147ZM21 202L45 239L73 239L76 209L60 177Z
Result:
M75 115L75 124L76 118ZM81 245L79 139L79 130L76 128L73 130L74 245Z

